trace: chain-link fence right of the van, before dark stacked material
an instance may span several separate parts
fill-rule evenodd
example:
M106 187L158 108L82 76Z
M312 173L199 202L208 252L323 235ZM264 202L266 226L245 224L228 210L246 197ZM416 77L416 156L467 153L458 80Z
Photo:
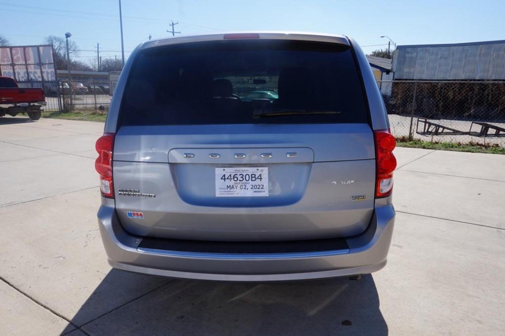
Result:
M378 84L397 138L505 147L505 82Z

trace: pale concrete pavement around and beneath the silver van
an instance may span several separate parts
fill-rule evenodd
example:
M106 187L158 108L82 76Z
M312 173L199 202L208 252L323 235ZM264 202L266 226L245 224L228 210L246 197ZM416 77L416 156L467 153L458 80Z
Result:
M213 283L109 267L102 128L0 118L0 334L505 333L505 155L397 148L388 265L361 281Z

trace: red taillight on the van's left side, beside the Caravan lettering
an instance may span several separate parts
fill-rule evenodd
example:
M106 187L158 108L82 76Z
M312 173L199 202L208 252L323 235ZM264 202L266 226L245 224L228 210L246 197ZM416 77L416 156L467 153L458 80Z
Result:
M104 133L95 144L98 157L95 170L100 175L100 192L104 197L114 198L112 186L112 149L114 148L114 133Z

